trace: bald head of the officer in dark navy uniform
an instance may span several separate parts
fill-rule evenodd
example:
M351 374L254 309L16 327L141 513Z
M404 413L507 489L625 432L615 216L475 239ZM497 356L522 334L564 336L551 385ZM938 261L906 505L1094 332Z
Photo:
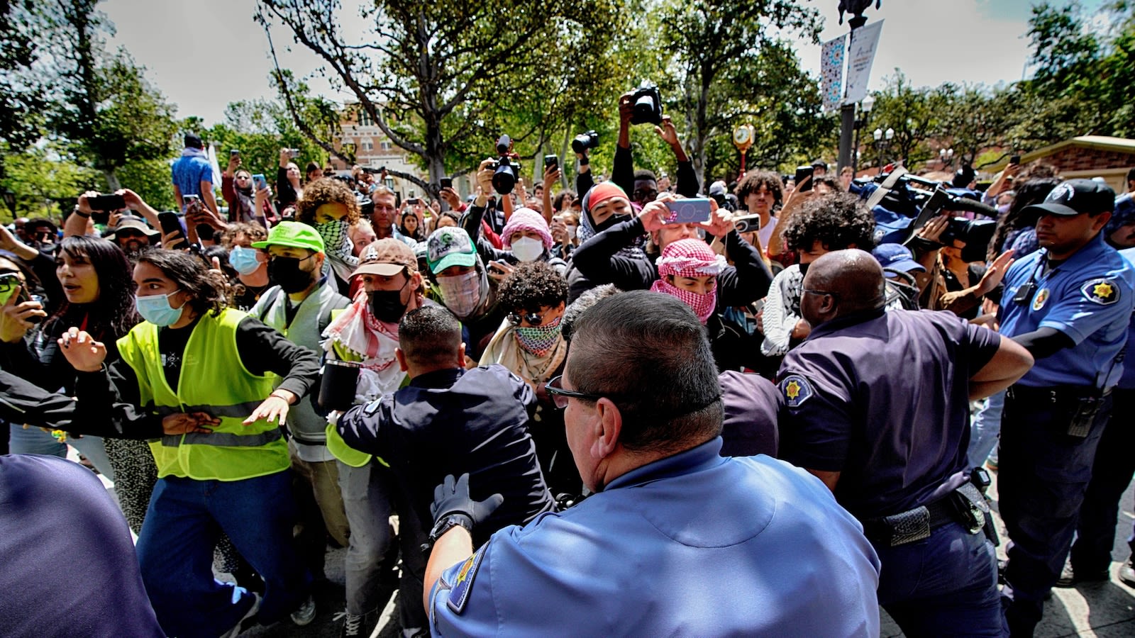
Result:
M832 251L808 267L804 287L821 299L801 302L800 310L809 324L818 326L850 312L882 308L886 302L884 282L883 268L871 253L858 249Z

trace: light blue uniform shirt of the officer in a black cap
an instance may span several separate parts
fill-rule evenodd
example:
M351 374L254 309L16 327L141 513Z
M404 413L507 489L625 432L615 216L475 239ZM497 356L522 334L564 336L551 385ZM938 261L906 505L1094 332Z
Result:
M1110 388L1123 376L1119 355L1135 303L1135 271L1102 233L1045 272L1049 251L1041 249L1014 263L1004 275L1001 334L1024 335L1056 328L1076 347L1036 360L1018 384L1031 387ZM1023 303L1014 297L1033 284Z

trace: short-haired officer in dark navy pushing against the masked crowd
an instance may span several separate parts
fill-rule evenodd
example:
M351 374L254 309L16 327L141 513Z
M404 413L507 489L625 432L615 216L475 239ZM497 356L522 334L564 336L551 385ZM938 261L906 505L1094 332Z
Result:
M472 473L478 496L505 495L504 505L478 526L480 543L506 524L555 511L555 502L529 435L536 394L504 366L466 371L461 324L452 312L437 305L407 312L398 325L395 352L410 385L351 409L337 428L351 447L389 460L397 477L403 547L398 591L407 602L403 607L417 607L414 614L403 613L403 629L421 630L426 614L417 602L426 556L420 547L434 524L434 487L447 473Z

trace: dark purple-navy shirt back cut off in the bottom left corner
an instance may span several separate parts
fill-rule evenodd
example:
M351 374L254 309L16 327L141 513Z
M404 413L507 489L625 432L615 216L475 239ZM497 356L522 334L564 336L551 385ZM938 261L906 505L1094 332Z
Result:
M165 636L131 530L86 468L0 456L0 630L5 636Z

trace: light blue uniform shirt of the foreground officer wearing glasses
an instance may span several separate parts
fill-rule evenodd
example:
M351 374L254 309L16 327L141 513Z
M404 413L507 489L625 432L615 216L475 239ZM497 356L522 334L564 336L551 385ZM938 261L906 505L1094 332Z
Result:
M506 527L430 593L436 636L878 636L878 557L818 479L715 438Z

